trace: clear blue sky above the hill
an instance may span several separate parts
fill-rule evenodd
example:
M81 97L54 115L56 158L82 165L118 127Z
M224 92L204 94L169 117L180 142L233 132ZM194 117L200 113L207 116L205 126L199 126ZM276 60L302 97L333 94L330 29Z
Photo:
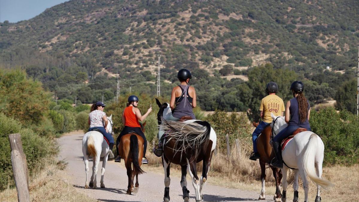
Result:
M0 22L19 22L69 0L0 0Z

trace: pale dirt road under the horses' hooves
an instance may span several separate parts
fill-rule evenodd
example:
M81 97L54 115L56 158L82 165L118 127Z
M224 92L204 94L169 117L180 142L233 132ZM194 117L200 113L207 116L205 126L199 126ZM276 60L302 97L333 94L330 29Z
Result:
M64 171L65 180L74 185L79 192L87 194L89 197L98 199L99 201L117 202L117 201L163 201L164 194L164 176L163 174L152 173L146 170L147 165L142 168L147 173L139 176L140 189L134 195L126 194L127 190L127 175L126 169L121 163L108 161L106 165L106 173L104 176L104 184L106 188L98 189L84 189L85 185L85 165L82 160L83 154L81 150L81 140L83 134L71 133L60 138L60 155L59 160L65 160L68 165ZM92 162L90 162L92 167ZM97 186L100 187L101 166L97 175ZM92 169L90 167L90 175ZM190 201L195 201L194 188L190 178L187 175L187 187L190 190ZM208 182L210 183L210 172ZM219 186L206 184L204 188L204 201L259 201L257 200L259 193L242 191L238 189L229 189ZM182 188L180 185L180 176L171 175L170 197L172 202L183 201ZM267 195L267 199L272 197ZM272 200L261 200L272 201Z

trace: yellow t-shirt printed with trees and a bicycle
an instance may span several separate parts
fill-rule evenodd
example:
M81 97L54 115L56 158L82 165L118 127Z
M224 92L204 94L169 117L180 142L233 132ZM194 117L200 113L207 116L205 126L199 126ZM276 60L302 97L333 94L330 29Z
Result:
M262 99L259 110L264 112L263 121L272 123L273 119L270 114L273 113L276 116L281 116L281 112L285 111L284 102L277 95L267 95Z

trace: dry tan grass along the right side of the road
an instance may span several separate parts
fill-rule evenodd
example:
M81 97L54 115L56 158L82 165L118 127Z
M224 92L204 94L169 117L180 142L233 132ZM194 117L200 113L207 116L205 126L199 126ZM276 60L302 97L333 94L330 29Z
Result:
M150 147L149 147L150 148ZM235 147L231 147L235 148ZM213 155L208 182L213 185L220 185L228 188L237 188L242 190L255 191L260 194L261 190L261 171L258 161L249 160L251 145L241 145L241 151L232 150L230 160L227 161L227 155L218 153ZM147 152L150 164L146 171L163 173L161 158L156 157L152 152ZM181 176L181 167L171 165L171 175ZM202 165L197 165L197 170L201 173ZM335 184L334 188L322 190L322 201L353 201L356 193L359 191L359 165L345 167L336 165L323 168L323 178L330 180ZM275 182L271 169L266 169L266 194L271 198L275 193ZM188 178L188 176L187 176ZM187 179L188 180L188 179ZM293 172L289 170L287 200L293 199ZM303 201L304 190L302 182L299 179L299 199ZM317 188L313 182L309 182L309 201L313 201L316 196Z

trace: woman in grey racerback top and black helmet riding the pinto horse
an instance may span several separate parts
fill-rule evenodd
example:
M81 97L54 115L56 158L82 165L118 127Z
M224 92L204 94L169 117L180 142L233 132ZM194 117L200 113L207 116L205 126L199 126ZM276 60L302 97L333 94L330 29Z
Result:
M171 93L171 101L169 107L171 107L172 115L167 120L178 121L183 116L190 116L192 119L196 119L193 113L193 108L196 107L196 90L194 87L188 85L190 79L192 79L191 72L187 69L181 69L177 73L177 78L180 80L180 85L174 87ZM158 145L153 148L153 153L160 157L163 153L163 131L159 132Z

